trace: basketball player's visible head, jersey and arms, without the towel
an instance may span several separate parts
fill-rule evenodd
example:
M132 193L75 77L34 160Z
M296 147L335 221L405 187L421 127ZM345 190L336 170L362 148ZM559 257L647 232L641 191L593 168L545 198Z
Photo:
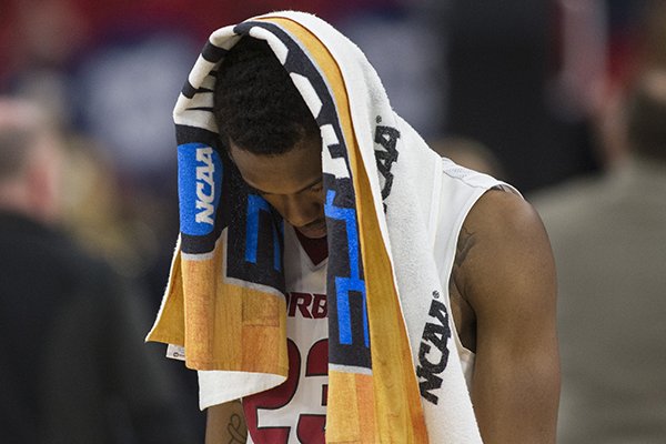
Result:
M206 443L323 443L327 364L326 225L319 128L265 42L225 57L215 119L245 182L284 218L290 374L270 391L208 407ZM559 393L555 272L536 212L511 186L447 176L434 255L455 254L454 340L485 443L554 443ZM473 200L471 208L451 202ZM465 216L466 213L466 216ZM462 222L464 220L464 223ZM460 221L460 222L456 222ZM462 223L462 225L461 225ZM446 238L455 231L457 243ZM445 235L446 234L446 235ZM201 397L214 397L202 380ZM428 425L430 426L430 425Z

